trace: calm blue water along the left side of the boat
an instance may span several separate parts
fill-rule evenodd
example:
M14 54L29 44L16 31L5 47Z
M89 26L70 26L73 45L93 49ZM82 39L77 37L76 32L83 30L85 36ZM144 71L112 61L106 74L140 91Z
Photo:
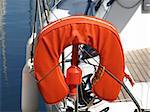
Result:
M21 74L31 32L31 2L0 0L0 111L3 112L21 110Z

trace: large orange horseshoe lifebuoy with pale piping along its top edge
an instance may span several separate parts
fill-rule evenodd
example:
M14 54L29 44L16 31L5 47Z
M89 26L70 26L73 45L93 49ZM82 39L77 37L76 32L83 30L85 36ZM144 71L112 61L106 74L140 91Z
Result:
M100 56L101 65L123 81L124 55L116 29L94 17L66 17L49 24L40 32L35 49L35 78L48 104L61 101L69 93L64 75L57 65L63 50L72 44L86 44L94 48ZM92 86L95 95L109 101L117 98L120 89L121 85L106 72Z

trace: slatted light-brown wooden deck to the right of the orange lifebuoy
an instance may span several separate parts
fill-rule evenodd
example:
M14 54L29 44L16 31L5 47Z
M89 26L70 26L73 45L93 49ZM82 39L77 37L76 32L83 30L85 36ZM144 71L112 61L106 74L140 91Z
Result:
M150 48L125 52L125 63L135 82L150 82ZM122 89L119 100L130 100Z

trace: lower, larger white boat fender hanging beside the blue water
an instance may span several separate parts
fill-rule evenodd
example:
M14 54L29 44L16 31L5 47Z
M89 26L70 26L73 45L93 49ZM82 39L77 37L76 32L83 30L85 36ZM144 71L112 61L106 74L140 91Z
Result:
M37 112L39 109L39 91L28 63L22 71L22 112Z

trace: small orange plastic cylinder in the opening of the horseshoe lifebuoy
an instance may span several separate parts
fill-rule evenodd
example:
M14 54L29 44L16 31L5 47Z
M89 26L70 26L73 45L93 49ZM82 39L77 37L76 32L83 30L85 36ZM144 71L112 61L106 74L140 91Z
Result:
M82 71L77 66L70 66L67 70L66 83L68 85L79 85L82 81Z

